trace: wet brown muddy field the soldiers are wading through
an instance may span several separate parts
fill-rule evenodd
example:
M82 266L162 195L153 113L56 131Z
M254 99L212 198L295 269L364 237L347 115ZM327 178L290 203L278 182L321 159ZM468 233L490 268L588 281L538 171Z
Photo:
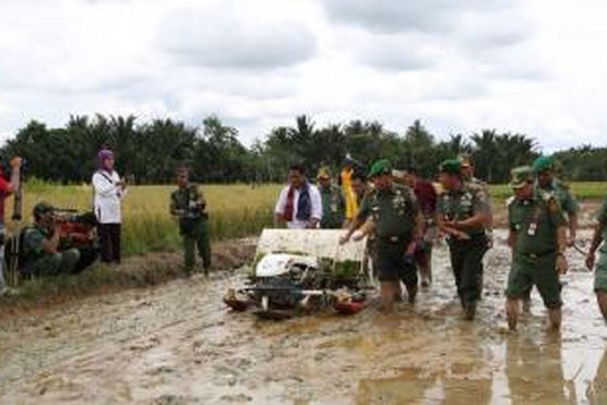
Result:
M435 284L392 316L374 301L349 318L257 321L222 305L240 270L4 319L0 403L606 404L607 327L583 256L569 252L561 335L544 332L535 292L510 334L505 235L474 323L459 318L444 246Z

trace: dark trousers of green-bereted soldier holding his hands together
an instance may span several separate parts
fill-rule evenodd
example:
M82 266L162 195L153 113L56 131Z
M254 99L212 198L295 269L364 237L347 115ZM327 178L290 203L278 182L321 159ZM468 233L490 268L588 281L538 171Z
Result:
M449 251L459 301L465 307L478 301L481 295L487 240L484 236L476 236L472 240L450 240Z

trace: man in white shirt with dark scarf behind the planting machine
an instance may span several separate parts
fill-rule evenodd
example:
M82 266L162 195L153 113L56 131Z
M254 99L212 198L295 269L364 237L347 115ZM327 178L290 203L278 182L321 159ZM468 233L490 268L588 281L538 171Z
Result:
M289 229L317 228L322 219L320 192L308 183L302 165L292 165L288 179L289 185L280 192L274 209L274 227L286 222Z

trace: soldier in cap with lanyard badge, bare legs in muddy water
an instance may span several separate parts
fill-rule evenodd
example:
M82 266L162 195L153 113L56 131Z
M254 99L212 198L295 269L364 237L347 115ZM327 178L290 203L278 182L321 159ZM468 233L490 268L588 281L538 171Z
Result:
M559 274L567 271L565 260L566 221L558 200L534 187L529 166L512 170L515 197L508 202L512 267L508 277L507 316L511 330L517 328L520 299L535 285L548 308L551 327L561 325Z

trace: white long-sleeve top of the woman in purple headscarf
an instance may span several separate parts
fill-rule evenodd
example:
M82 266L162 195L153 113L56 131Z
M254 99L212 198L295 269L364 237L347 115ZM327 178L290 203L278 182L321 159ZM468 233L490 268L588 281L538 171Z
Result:
M95 189L95 216L99 223L121 223L121 200L126 195L117 183L120 176L116 171L96 171L93 174L93 189Z

